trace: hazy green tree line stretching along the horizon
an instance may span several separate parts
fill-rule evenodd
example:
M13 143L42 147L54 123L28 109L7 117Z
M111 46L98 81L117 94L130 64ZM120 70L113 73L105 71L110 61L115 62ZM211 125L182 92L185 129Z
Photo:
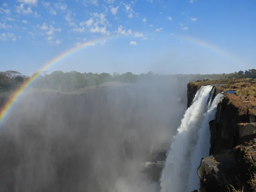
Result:
M71 71L64 73L62 71L54 71L51 74L47 72L35 73L38 75L35 82L33 83L35 88L41 89L51 89L59 91L76 91L81 88L88 86L97 86L101 85L104 82L124 82L124 83L137 83L141 81L149 81L156 79L170 79L176 77L181 80L186 81L195 81L195 80L219 80L223 79L232 79L232 78L256 78L256 70L249 69L245 72L239 71L229 74L178 74L178 75L159 75L153 74L151 71L147 74L133 74L131 72L126 72L123 74L113 73L80 73L76 71ZM33 75L33 76L34 76ZM33 77L32 76L32 77ZM0 71L0 92L9 92L17 89L23 82L29 80L25 75L22 75L18 71Z

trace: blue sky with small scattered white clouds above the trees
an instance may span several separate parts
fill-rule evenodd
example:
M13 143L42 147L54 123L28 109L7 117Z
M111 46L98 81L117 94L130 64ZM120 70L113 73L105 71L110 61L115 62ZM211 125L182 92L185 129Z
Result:
M0 70L229 73L256 66L254 0L2 0ZM109 38L113 37L113 38Z

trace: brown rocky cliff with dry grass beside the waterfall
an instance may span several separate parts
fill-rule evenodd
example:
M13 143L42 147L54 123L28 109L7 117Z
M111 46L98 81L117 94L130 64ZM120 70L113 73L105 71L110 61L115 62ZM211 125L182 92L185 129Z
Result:
M188 107L202 85L224 92L209 122L209 157L198 168L201 191L256 191L256 80L197 81L188 84Z

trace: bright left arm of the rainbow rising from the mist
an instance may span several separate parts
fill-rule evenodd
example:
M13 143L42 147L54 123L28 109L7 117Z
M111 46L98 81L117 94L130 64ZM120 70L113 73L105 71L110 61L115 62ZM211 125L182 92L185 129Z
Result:
M17 101L17 99L19 98L19 96L22 94L22 92L40 75L41 71L45 71L47 68L49 68L50 66L52 66L53 64L65 59L66 57L68 57L69 55L71 55L72 53L83 49L85 47L89 47L89 46L94 46L97 43L101 43L101 42L105 42L107 39L111 39L111 38L115 38L118 36L105 36L105 37L101 37L99 39L94 39L92 41L89 42L85 42L82 44L79 44L61 54L59 54L57 57L55 57L54 59L52 59L51 61L49 61L46 65L44 65L39 72L35 73L31 78L29 78L28 80L26 80L9 98L9 100L7 101L7 103L2 107L1 111L0 111L0 125L1 123L4 121L4 117L7 116L7 114L11 111L11 107L13 106L13 104Z

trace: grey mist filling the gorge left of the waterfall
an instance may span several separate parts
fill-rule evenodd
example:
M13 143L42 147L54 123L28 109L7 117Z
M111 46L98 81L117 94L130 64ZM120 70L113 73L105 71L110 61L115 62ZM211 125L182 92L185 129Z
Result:
M186 84L170 76L23 92L0 125L0 191L159 191Z

